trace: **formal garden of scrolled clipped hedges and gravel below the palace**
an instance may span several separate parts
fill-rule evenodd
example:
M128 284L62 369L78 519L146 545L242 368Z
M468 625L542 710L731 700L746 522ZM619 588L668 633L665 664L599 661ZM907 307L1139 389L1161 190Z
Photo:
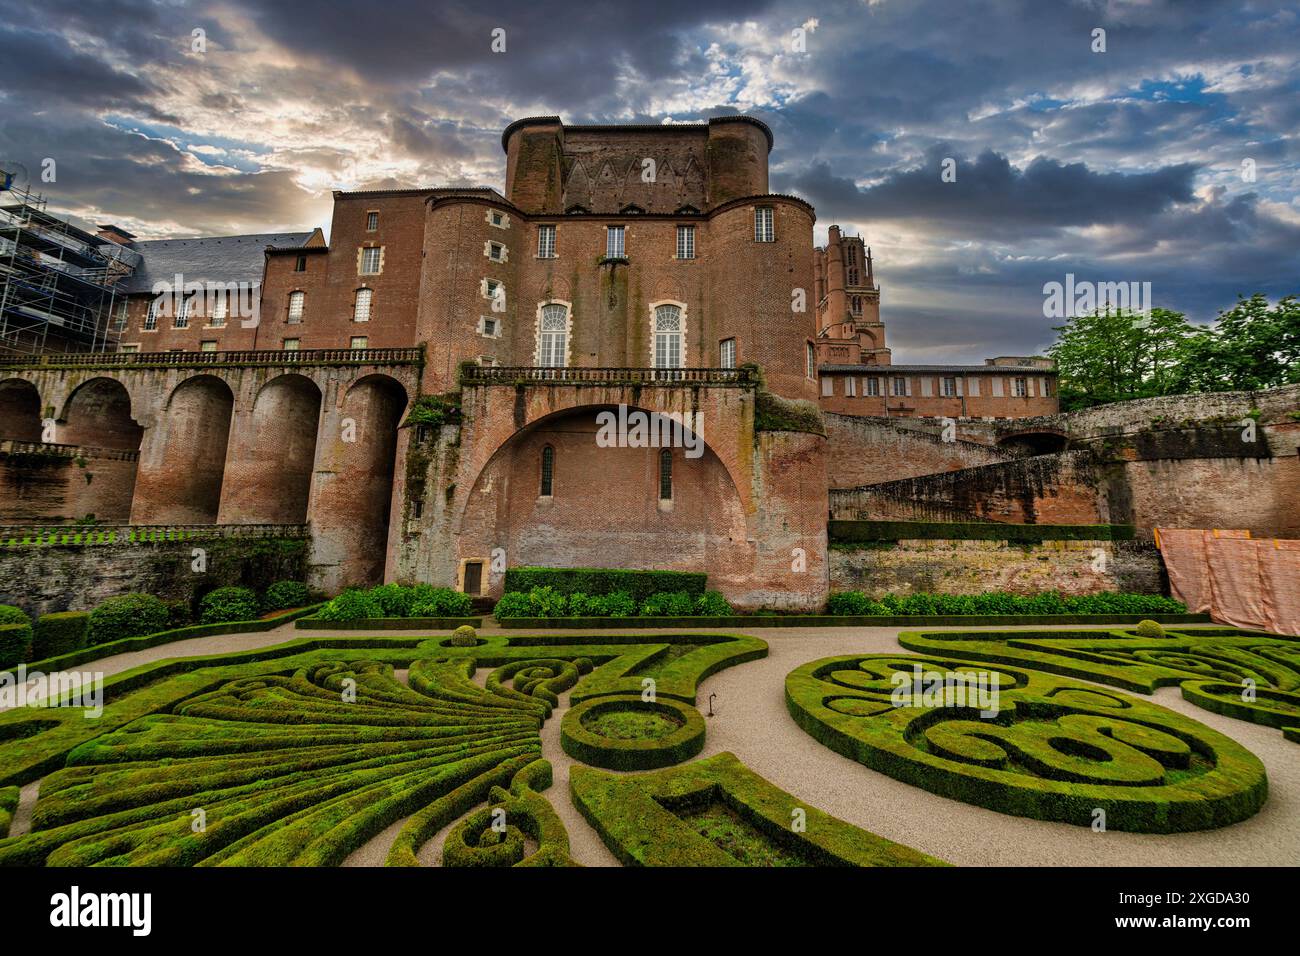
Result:
M1176 842L1216 830L1300 845L1269 777L1300 796L1295 639L1139 594L850 592L824 611L737 614L705 575L582 568L512 570L494 609L298 581L0 607L0 865L975 858L930 813L1063 847L1109 834L1117 860L1150 852L1124 835L1187 862L1205 844ZM13 706L101 667L94 719L52 706L78 693L56 682Z

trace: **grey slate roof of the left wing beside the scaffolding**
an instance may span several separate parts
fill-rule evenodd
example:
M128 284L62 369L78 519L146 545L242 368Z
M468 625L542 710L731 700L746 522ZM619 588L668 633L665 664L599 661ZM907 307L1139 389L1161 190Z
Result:
M118 291L148 293L155 282L174 282L177 273L186 284L260 282L266 246L291 248L309 238L312 233L307 232L133 242L129 248L139 252L144 261Z

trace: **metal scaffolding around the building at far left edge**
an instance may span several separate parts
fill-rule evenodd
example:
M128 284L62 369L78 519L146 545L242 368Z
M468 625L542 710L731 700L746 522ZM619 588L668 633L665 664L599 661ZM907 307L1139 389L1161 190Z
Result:
M134 250L46 211L46 198L0 169L0 355L112 351L117 291Z

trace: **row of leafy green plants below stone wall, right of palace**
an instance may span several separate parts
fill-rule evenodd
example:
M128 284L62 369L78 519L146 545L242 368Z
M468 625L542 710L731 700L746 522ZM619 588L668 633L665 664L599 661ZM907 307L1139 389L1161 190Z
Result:
M1182 601L1162 594L1123 594L1101 592L1097 594L1060 594L1045 591L1037 594L1010 594L988 592L984 594L885 594L875 600L861 591L841 591L831 594L827 614L852 617L907 617L924 614L1183 614Z

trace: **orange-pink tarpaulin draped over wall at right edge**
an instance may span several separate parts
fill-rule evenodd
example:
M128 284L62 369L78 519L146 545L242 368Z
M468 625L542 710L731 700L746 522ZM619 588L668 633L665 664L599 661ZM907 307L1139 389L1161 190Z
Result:
M1300 541L1157 528L1174 597L1222 624L1300 636Z

